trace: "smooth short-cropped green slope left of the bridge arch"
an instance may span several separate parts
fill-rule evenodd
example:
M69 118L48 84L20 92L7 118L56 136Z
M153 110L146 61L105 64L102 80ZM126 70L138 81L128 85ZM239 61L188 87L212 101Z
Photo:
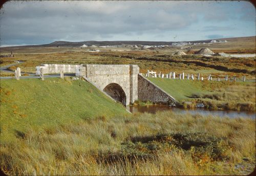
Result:
M127 114L90 83L65 78L1 80L1 143L28 129Z

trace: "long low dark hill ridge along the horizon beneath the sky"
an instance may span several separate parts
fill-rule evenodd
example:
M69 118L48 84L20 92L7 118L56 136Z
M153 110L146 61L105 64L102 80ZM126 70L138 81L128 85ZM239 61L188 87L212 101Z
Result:
M216 40L227 40L227 41L232 41L232 42L237 42L237 41L255 41L255 36L250 36L250 37L232 37L232 38L214 38ZM194 40L194 41L183 41L183 42L210 42L212 39L207 39L207 40ZM87 46L117 46L117 45L150 45L150 46L155 46L155 45L171 45L173 42L179 42L179 41L54 41L49 44L44 44L44 45L28 45L28 46L17 46L18 48L28 48L28 47L80 47L82 45L87 45ZM5 47L7 48L7 47ZM8 48L13 48L13 47L8 47Z

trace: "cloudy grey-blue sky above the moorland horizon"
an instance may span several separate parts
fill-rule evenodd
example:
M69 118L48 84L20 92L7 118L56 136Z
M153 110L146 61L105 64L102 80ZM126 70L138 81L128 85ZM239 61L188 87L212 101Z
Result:
M53 41L189 41L255 36L248 1L8 1L0 45Z

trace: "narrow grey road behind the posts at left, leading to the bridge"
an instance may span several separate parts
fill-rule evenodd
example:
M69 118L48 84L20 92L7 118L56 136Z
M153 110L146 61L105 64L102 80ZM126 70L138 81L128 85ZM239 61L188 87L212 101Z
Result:
M6 73L13 73L13 71L8 70L9 67L23 63L24 61L19 61L19 63L12 63L9 65L5 65L3 67L0 67L0 72L6 72ZM20 72L22 74L24 74L25 72ZM27 73L29 74L29 76L20 76L20 79L23 78L40 78L40 76L36 76L34 73ZM75 73L65 73L64 76L75 76ZM45 75L45 78L53 78L53 77L60 77L60 74L52 74L52 75ZM14 77L12 76L5 76L5 77L0 77L0 79L12 79Z

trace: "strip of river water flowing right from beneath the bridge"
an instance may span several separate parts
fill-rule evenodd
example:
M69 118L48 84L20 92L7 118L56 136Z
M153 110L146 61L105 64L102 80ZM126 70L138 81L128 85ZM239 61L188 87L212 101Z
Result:
M177 114L200 114L203 116L212 115L219 117L243 117L243 118L251 118L255 119L255 112L247 112L247 111L209 111L204 108L195 108L195 109L182 109L177 107L170 107L166 105L148 105L148 106L129 106L127 109L131 113L153 113L155 114L157 111L173 111Z

